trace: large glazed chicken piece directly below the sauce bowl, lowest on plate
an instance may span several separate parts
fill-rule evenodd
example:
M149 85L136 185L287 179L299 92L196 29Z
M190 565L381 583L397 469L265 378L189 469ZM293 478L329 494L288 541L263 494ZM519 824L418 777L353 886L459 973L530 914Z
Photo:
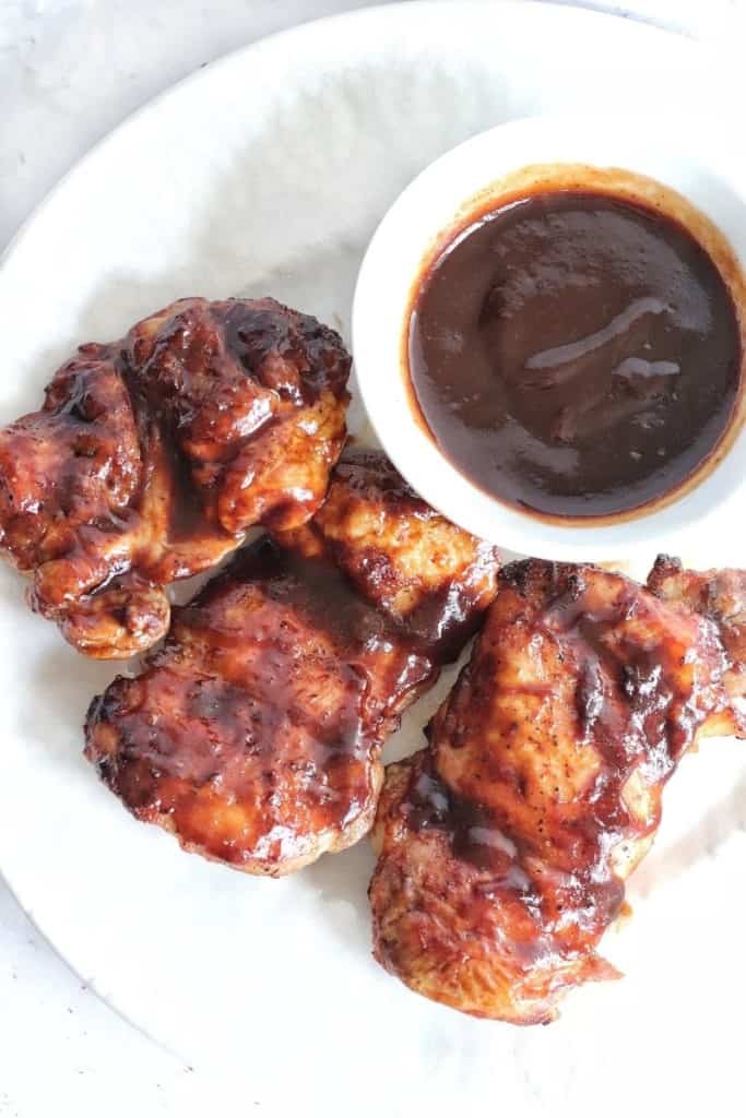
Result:
M661 793L729 709L717 626L620 575L512 565L471 663L386 773L375 954L475 1016L550 1021L648 851Z

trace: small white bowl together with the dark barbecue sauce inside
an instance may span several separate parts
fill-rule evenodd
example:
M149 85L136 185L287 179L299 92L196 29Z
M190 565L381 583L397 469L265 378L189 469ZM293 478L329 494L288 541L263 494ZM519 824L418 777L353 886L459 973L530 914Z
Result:
M705 124L483 133L366 255L353 343L376 433L427 500L512 550L701 552L746 475L740 259L743 169Z

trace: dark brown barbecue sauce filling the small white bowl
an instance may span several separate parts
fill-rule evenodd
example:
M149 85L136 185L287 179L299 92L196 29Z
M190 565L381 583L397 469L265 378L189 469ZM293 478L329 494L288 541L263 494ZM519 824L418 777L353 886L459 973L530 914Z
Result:
M433 438L490 494L608 517L678 490L730 426L742 349L683 225L555 190L485 214L424 275L408 337Z

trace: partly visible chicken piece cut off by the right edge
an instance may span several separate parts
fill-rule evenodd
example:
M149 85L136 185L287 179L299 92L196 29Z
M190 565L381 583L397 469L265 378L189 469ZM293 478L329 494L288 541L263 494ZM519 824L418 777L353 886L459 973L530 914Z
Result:
M708 722L712 733L746 737L746 571L684 570L679 559L659 556L648 587L664 601L688 606L718 627L728 656L728 703Z

